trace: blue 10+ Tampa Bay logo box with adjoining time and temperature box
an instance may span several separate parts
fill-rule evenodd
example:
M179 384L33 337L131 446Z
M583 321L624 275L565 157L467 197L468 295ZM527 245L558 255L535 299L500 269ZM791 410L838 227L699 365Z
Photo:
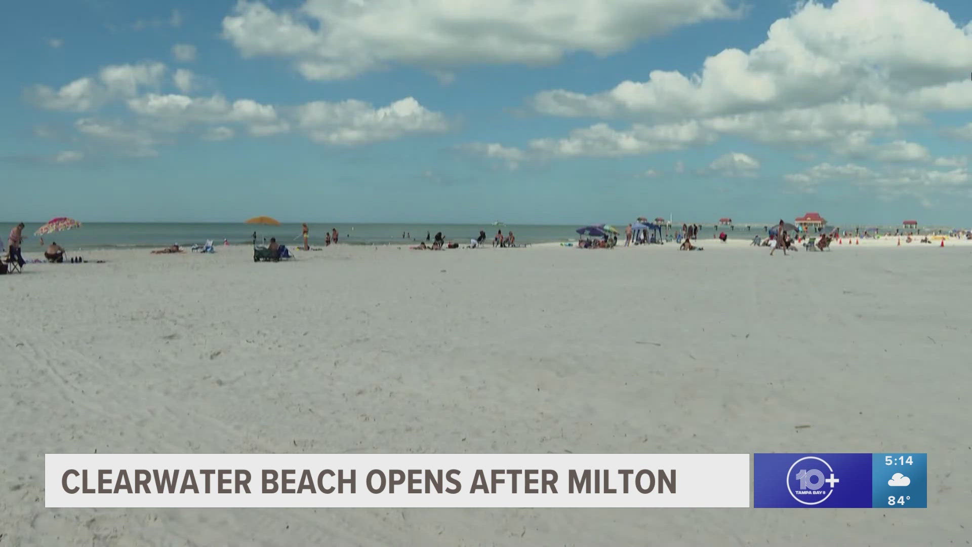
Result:
M754 507L927 507L927 455L756 454Z

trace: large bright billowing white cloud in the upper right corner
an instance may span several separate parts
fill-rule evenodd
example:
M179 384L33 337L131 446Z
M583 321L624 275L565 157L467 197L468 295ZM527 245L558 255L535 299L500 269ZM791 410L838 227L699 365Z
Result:
M654 70L646 82L623 82L593 95L544 91L535 104L560 116L715 117L848 97L885 101L899 91L925 91L935 95L929 104L941 103L937 95L964 89L957 76L967 73L972 35L929 2L893 4L807 2L774 22L753 50L724 50L697 74Z

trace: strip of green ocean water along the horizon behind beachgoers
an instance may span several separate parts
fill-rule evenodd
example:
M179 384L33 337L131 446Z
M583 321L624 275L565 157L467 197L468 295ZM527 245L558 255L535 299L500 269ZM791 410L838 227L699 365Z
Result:
M15 222L0 222L0 231L3 232L4 245L6 245L6 235L14 227ZM42 226L42 223L25 223L24 249L40 245L39 237L34 236L34 231ZM622 231L623 239L624 227L627 222L611 223L619 231ZM748 226L748 230L747 230ZM731 238L751 239L753 236L763 236L765 234L764 224L737 224L734 227L720 226L714 227L712 224L703 226L699 230L701 239L711 239L719 232L725 232ZM517 243L543 243L551 241L571 241L577 238L575 230L579 225L503 225L493 226L492 224L434 224L434 223L414 223L414 224L308 224L310 229L310 243L312 245L323 245L326 233L330 233L331 228L336 228L340 235L341 243L350 244L396 244L411 243L426 239L426 234L435 236L436 232L441 232L446 240L453 240L461 244L469 242L479 235L479 231L486 232L487 241L492 242L497 230L503 230L503 234L510 231L516 236ZM673 226L672 236L675 230L680 230L681 224ZM192 243L202 243L206 239L212 239L216 244L222 244L227 239L231 244L245 244L253 241L253 233L257 232L258 240L262 241L265 237L276 237L284 244L295 245L300 242L300 224L286 223L280 226L261 226L244 223L111 223L111 222L92 222L85 223L81 228L60 232L44 237L45 244L56 241L59 245L67 249L85 248L112 248L112 247L157 247L179 243L189 246ZM894 227L891 228L891 231ZM863 232L863 228L861 228ZM406 237L402 237L402 233ZM663 234L665 232L663 231Z

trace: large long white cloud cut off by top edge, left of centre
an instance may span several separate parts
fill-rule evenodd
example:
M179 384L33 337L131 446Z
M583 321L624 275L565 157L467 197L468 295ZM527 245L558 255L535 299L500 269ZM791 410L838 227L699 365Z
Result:
M241 0L223 35L243 55L292 59L310 80L349 78L391 63L429 70L475 63L549 64L572 52L608 55L680 25L732 18L728 0L307 0L273 10ZM389 21L395 21L390 25Z

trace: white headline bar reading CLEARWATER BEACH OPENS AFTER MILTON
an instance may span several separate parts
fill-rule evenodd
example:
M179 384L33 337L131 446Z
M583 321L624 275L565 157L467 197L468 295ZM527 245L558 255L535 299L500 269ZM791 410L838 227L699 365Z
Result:
M749 507L749 463L748 454L49 454L45 504Z

